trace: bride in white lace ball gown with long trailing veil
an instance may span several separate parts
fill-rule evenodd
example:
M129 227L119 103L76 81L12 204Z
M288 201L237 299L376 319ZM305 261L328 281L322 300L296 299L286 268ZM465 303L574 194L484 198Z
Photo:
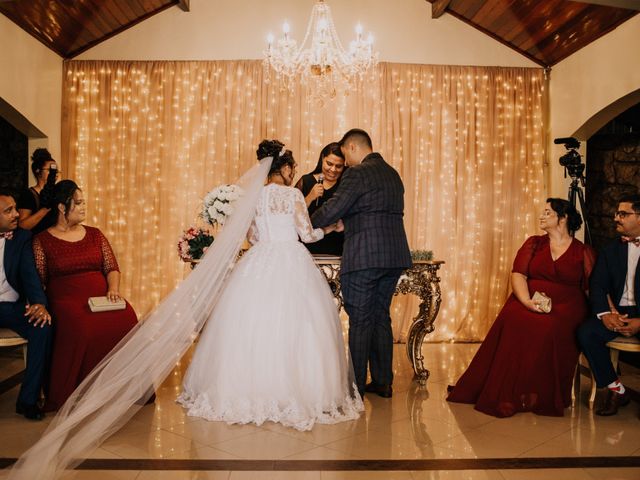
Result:
M8 480L57 478L82 462L144 405L205 322L179 398L189 415L301 430L357 418L362 399L333 298L297 241L323 232L290 187L295 162L282 147L260 144L200 264L92 370ZM254 247L234 269L247 231Z

